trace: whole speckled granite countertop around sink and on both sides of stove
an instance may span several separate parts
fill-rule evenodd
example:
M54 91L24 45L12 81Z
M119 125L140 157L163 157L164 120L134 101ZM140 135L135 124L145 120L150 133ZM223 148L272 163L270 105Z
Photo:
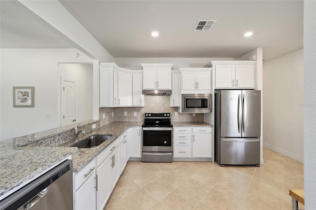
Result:
M92 120L85 123L94 122ZM0 141L0 196L39 175L70 155L72 155L73 160L73 172L79 172L129 127L140 127L142 124L143 122L112 122L87 134L79 135L78 140L83 140L91 135L112 135L110 139L93 148L71 147L75 143L74 140L63 142L58 146L21 146L31 142L34 143L42 137L47 137L47 135L72 130L74 129L73 126L51 129L13 140ZM172 122L172 124L174 127L213 127L204 122Z

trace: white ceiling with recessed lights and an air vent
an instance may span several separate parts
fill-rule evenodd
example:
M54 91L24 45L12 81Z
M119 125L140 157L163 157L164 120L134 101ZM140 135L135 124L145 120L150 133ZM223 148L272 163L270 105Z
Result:
M271 60L303 47L303 0L59 1L115 58L239 58L262 47ZM0 12L1 48L72 47L18 1L1 0ZM217 22L193 31L204 19Z

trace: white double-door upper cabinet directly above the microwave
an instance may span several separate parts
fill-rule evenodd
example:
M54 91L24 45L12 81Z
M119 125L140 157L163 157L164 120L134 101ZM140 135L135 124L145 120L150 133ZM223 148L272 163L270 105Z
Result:
M210 91L211 69L210 68L180 68L182 91Z

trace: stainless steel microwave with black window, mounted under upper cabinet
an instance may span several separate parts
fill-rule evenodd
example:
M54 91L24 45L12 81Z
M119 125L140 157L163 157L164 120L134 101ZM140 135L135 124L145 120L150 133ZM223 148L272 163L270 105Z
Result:
M182 112L212 112L212 94L182 94Z

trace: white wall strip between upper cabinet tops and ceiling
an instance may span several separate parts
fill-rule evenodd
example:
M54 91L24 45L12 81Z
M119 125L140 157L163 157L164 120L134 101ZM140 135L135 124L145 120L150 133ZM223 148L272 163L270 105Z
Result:
M165 63L174 64L172 69L204 67L212 60L231 61L234 58L114 58L115 63L122 68L141 70L141 63Z

